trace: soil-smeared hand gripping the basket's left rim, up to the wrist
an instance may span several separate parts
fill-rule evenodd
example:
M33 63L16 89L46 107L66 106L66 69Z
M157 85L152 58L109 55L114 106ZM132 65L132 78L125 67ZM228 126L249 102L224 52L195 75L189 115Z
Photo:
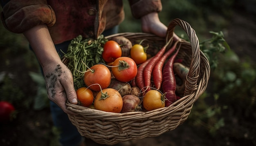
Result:
M71 71L62 62L44 66L43 71L49 100L55 102L65 113L75 114L65 105L67 100L77 104Z

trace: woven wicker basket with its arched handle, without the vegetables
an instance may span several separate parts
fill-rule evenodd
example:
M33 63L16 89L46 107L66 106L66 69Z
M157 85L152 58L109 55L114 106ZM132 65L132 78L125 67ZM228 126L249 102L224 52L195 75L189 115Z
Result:
M184 29L190 39L190 42L182 43L176 57L183 60L182 64L190 66L186 78L184 97L168 107L148 112L129 113L110 113L67 102L67 108L78 113L78 115L68 116L82 136L88 137L99 144L113 145L132 139L159 136L177 128L188 118L193 103L207 87L210 66L207 58L200 51L195 31L187 22L180 19L173 20L168 26L167 32L170 35L166 37L171 38L176 25ZM118 33L106 38L114 36L124 36L132 43L147 39L149 41L144 41L144 43L153 48L148 49L152 54L158 51L154 48L161 48L166 40L148 33Z

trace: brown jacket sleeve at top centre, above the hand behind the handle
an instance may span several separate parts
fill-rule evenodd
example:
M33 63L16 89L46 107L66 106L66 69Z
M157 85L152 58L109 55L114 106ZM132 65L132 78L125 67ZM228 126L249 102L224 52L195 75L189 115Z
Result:
M152 12L162 11L161 0L129 0L132 15L135 18L141 18Z

